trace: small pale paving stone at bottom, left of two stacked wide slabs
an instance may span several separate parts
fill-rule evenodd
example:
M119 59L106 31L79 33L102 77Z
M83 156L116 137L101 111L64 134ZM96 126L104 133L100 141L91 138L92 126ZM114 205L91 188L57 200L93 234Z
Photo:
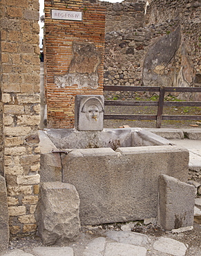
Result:
M84 250L84 256L102 256L106 246L106 239L98 237L91 241Z

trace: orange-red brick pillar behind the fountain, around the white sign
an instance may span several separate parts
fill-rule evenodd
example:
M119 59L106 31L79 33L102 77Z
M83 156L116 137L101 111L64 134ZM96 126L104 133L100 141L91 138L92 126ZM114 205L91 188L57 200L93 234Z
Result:
M51 10L82 12L82 21L52 19ZM77 94L102 94L105 8L89 1L45 1L48 127L74 127Z

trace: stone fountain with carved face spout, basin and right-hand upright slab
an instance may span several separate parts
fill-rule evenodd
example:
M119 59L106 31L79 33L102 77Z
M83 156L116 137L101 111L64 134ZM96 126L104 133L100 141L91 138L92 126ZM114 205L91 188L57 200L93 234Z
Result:
M75 186L81 226L151 218L166 230L192 226L189 152L141 128L104 129L103 121L103 96L77 95L75 129L41 131L42 184Z

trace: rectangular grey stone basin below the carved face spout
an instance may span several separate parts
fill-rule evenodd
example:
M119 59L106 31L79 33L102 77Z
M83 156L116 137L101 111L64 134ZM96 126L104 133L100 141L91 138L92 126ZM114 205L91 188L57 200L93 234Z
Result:
M189 152L140 128L104 132L105 137L102 131L41 132L41 181L75 185L82 225L156 218L159 176L186 182ZM89 145L94 147L86 148ZM52 154L52 149L68 154ZM50 163L58 163L57 168Z

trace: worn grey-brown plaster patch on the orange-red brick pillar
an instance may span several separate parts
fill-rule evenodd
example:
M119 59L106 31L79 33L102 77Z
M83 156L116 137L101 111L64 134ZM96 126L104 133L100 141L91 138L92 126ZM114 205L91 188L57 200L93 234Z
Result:
M97 89L99 63L100 56L94 44L74 42L73 59L68 74L55 76L55 84L59 88L77 84L78 89L82 87Z

